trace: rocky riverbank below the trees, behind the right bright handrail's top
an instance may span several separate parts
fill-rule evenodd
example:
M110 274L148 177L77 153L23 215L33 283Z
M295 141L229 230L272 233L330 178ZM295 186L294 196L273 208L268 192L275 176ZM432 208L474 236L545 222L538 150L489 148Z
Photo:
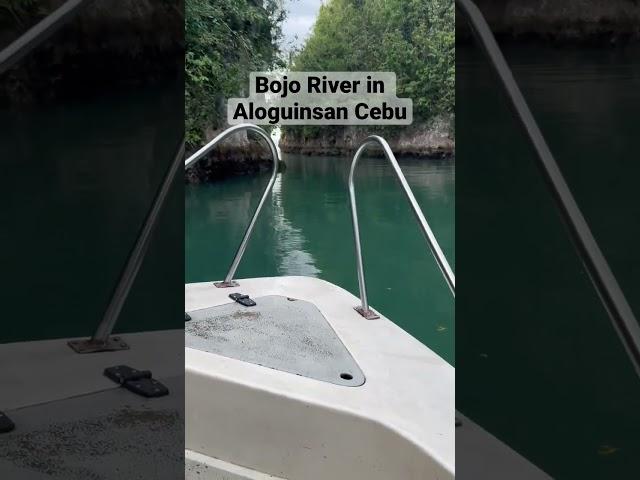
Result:
M288 128L283 131L280 149L300 155L349 156L372 134L384 137L398 156L445 158L452 157L455 152L452 115L388 131L347 126L324 128L310 134L305 133L304 128Z

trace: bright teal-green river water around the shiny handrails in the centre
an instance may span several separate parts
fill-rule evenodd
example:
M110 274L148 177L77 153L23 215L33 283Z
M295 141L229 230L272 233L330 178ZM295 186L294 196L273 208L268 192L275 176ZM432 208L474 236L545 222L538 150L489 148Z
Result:
M309 275L357 295L350 159L285 154L284 161L236 276ZM399 161L455 265L454 162ZM224 277L267 180L237 177L186 187L186 282ZM385 159L360 162L356 192L370 303L453 363L453 299Z

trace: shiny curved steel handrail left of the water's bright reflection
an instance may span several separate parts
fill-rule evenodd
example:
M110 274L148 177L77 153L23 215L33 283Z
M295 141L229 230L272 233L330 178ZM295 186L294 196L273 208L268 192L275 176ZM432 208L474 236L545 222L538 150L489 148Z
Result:
M247 244L249 243L249 238L251 237L251 233L253 232L253 227L256 224L256 221L258 219L258 215L260 215L260 211L262 210L262 206L264 205L265 201L267 200L267 197L269 196L269 192L271 192L271 189L273 188L273 184L276 181L276 175L278 174L278 163L279 163L279 160L280 160L280 156L278 155L278 149L277 149L275 143L273 142L273 140L271 139L271 137L269 136L269 134L267 132L265 132L262 128L260 128L260 127L258 127L256 125L252 125L250 123L242 123L240 125L234 125L233 127L230 127L228 129L226 129L224 132L219 134L217 137L215 137L213 140L211 140L209 143L207 143L204 147L202 147L196 153L194 153L189 158L187 158L185 160L185 162L184 162L184 167L185 168L190 167L195 162L197 162L202 157L204 157L207 153L209 153L222 140L224 140L225 138L227 138L227 137L229 137L229 136L231 136L231 135L233 135L235 133L243 131L243 130L247 130L247 131L250 131L250 132L257 133L260 137L262 137L267 142L267 145L269 145L269 149L271 150L271 156L273 157L273 171L271 173L271 178L269 179L269 182L267 183L267 186L264 189L264 192L262 194L262 198L260 199L260 202L258 203L258 206L256 207L256 209L255 209L255 211L253 213L253 217L251 218L251 222L249 222L249 225L247 226L247 229L244 232L244 236L242 237L242 242L240 242L240 246L238 247L238 250L236 251L236 254L235 254L234 258L233 258L233 262L231 262L231 266L229 267L229 271L227 272L227 275L224 277L224 281L215 283L216 287L219 287L219 288L235 287L235 286L238 285L238 282L235 282L233 280L233 277L236 274L236 270L238 269L238 265L240 264L240 260L242 260L242 256L244 255L244 251L247 249Z

